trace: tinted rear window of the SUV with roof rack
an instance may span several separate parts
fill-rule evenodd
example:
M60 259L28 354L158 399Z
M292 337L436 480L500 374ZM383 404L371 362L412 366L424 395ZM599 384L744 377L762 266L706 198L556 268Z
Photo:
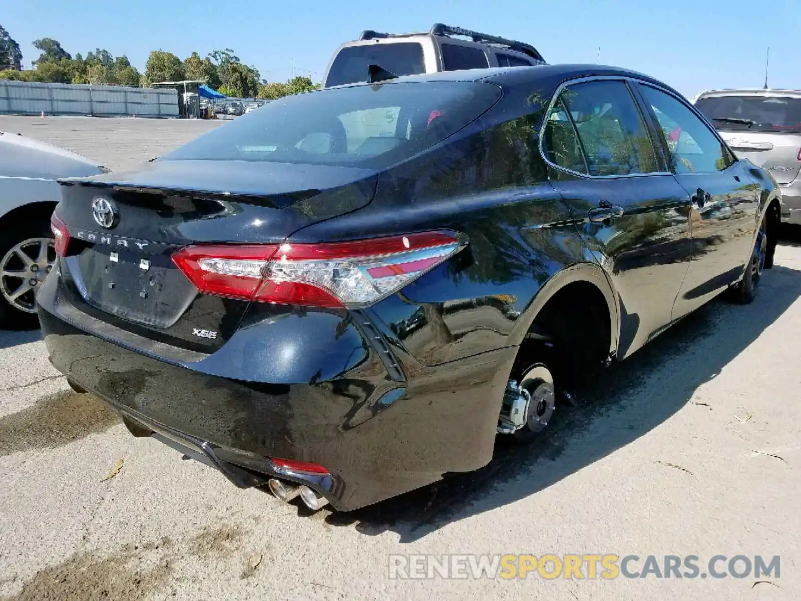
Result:
M331 63L325 86L367 81L370 65L377 65L395 75L425 73L423 46L417 42L345 46Z

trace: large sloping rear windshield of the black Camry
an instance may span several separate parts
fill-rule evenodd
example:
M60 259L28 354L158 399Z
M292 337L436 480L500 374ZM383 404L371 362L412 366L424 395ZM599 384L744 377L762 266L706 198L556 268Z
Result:
M481 82L340 87L264 105L164 155L384 168L440 142L501 97Z

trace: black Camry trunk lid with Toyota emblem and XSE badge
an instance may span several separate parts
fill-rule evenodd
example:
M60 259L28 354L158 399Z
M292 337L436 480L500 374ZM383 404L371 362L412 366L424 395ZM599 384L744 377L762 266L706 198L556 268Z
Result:
M189 160L60 183L56 215L70 233L62 279L74 301L105 321L207 352L235 332L248 301L201 294L171 259L179 248L280 244L368 204L376 185L372 171L357 168Z

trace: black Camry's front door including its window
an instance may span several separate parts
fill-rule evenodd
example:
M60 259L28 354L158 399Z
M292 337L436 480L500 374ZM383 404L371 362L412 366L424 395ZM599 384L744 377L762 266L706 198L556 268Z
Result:
M754 244L759 191L714 128L685 100L646 83L638 91L658 123L676 181L690 195L692 260L676 298L678 319L733 284Z

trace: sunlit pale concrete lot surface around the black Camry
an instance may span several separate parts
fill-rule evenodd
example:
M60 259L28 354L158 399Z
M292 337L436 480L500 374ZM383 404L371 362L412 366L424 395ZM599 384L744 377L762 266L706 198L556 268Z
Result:
M117 168L215 125L0 118ZM753 305L714 300L533 446L352 514L309 516L131 437L38 333L0 332L0 599L799 599L801 235L785 236ZM392 554L640 556L630 571L698 555L702 573L778 555L780 575L390 579Z

